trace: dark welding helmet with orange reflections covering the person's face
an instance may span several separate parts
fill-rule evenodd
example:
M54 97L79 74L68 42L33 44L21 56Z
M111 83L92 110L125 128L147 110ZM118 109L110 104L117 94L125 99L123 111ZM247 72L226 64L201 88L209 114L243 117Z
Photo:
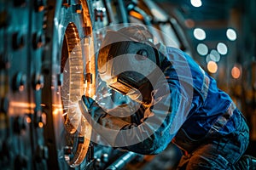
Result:
M121 94L140 90L159 66L152 34L143 26L108 31L99 50L98 73L110 88Z

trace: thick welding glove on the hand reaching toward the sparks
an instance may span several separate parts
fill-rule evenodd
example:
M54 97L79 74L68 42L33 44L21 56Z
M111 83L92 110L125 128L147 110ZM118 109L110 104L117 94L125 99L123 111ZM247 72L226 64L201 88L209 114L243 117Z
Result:
M118 116L108 114L94 99L88 96L82 96L79 107L96 133L100 134L112 146L114 146L116 136L122 127L130 124L130 122L125 122ZM118 115L118 113L115 115Z

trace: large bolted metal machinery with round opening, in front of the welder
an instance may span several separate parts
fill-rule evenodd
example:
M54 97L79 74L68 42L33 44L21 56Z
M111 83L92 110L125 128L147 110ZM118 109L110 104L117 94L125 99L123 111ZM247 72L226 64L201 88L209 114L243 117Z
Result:
M104 37L97 30L131 21L157 25L143 5L0 0L1 169L120 169L141 160L90 141L77 102L96 94L95 49ZM160 23L174 27L172 20Z

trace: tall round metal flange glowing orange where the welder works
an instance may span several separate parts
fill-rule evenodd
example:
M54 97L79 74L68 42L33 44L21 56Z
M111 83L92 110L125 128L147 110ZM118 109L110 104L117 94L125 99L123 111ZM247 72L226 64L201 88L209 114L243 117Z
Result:
M89 87L84 82L86 71L95 69L93 59L89 68L84 67L85 56L89 54L84 54L82 48L84 37L90 38L89 49L93 50L94 45L89 8L84 1L49 2L49 6L44 29L47 43L42 59L42 103L47 112L44 138L51 141L48 144L48 168L84 167L90 163L85 159L90 129L75 106L79 96L84 93L93 95L95 91L93 84Z

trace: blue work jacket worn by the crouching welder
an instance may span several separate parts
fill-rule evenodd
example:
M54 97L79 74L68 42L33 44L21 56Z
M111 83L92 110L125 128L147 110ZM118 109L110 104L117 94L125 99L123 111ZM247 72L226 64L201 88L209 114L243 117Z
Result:
M123 148L141 154L157 154L165 150L173 140L179 145L181 142L175 140L175 136L181 131L183 135L195 141L203 139L213 131L212 135L226 135L236 131L236 114L233 114L236 106L230 96L217 87L216 81L183 51L166 48L165 55L161 70L166 77L167 85L157 81L153 104L146 110L137 111L139 118L123 129L137 127L137 132L144 133L147 131L145 129L154 127L150 123L148 127L140 127L140 124L148 121L148 117L155 117L153 122L158 122L160 126L142 142ZM160 105L154 107L157 103ZM162 115L165 115L164 118L159 119ZM140 135L137 133L131 133L129 138L126 137L131 140L138 138Z

